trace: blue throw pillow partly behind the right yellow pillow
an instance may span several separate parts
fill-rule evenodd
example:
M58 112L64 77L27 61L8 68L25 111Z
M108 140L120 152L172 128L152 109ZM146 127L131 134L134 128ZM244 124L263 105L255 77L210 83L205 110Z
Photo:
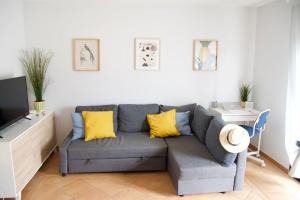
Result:
M181 135L192 135L189 119L190 111L176 113L176 127Z

